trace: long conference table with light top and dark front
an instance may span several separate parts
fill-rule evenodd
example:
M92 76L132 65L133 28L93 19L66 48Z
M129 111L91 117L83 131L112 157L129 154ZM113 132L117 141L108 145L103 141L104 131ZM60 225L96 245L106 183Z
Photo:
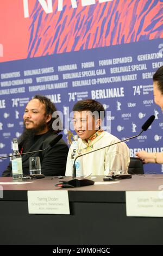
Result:
M68 180L70 178L65 178ZM15 185L0 178L1 245L162 245L162 217L127 217L126 191L158 191L163 175L133 175L120 182L56 187L47 176ZM13 182L13 184L8 184ZM6 184L5 184L6 183ZM70 215L29 214L27 191L67 190ZM2 192L2 191L1 191ZM2 196L1 196L2 197Z

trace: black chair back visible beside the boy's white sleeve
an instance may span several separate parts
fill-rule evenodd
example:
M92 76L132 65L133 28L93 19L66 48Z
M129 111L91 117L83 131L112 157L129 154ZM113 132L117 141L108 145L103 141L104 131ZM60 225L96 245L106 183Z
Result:
M130 157L128 173L129 174L144 174L142 160L137 157Z

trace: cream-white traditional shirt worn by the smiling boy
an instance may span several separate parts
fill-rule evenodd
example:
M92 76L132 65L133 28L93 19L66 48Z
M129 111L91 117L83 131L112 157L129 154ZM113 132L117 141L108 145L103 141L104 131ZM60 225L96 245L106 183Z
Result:
M85 139L78 139L79 150L82 154L103 148L118 141L120 140L117 137L103 131L102 129L98 130L87 141ZM66 176L72 176L72 152L73 144L68 151ZM130 162L129 148L126 143L121 142L85 156L80 156L80 161L82 161L84 176L107 175L110 172L115 172L116 170L121 170L122 174L127 174Z

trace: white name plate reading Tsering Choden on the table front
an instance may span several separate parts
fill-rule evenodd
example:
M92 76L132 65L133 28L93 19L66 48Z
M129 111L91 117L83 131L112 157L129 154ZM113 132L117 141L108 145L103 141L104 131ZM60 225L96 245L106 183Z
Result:
M28 191L29 214L70 214L68 191Z

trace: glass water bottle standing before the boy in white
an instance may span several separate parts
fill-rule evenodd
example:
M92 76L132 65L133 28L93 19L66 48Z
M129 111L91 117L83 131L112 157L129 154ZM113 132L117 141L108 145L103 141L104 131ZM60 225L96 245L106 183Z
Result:
M78 142L78 135L73 136L73 152L71 155L71 159L74 160L76 159L77 156L81 155L80 150L79 150L79 142ZM78 159L75 162L76 166L76 177L83 177L83 162L82 162L82 157L78 157Z

